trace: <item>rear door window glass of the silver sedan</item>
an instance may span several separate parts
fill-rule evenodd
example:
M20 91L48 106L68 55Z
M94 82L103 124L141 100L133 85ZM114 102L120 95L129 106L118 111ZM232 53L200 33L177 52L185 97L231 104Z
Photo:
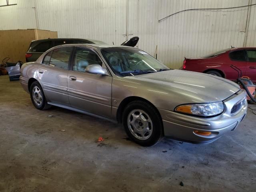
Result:
M60 69L68 69L68 63L70 59L70 54L73 50L73 47L62 47L54 49L52 52L52 57L50 59L50 66L60 68Z

